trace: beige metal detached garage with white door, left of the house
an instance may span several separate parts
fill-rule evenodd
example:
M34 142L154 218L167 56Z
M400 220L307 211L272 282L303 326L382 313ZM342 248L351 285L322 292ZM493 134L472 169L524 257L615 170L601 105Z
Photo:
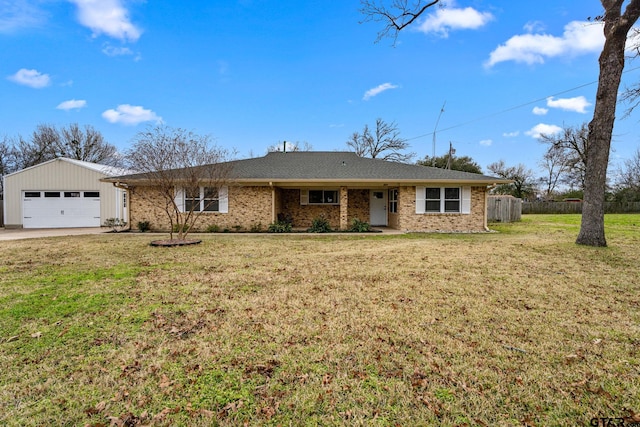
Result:
M107 218L127 221L126 192L100 182L125 173L61 157L6 175L5 228L100 227Z

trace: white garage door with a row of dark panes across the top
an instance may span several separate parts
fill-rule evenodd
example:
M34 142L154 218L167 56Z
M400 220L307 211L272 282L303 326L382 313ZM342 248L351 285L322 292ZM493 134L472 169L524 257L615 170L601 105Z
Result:
M98 191L23 191L24 228L100 227Z

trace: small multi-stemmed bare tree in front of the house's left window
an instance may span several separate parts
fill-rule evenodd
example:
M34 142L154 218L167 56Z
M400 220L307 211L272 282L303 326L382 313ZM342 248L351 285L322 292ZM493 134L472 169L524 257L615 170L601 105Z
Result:
M198 217L219 203L218 193L229 181L228 153L202 136L165 125L139 132L125 159L138 183L129 190L158 205L170 223L170 239L185 240ZM183 200L176 200L183 194Z

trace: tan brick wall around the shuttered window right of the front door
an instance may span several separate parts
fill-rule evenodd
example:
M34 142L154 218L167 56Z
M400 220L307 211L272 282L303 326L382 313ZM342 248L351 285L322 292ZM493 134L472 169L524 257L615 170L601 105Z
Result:
M471 213L416 214L416 187L398 189L398 228L404 231L486 231L486 187L471 187Z

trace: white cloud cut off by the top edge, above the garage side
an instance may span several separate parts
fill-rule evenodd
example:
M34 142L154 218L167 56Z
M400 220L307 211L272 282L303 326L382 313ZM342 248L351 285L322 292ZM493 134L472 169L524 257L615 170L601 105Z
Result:
M142 30L131 23L121 0L69 0L78 7L78 20L93 31L120 40L136 41Z

